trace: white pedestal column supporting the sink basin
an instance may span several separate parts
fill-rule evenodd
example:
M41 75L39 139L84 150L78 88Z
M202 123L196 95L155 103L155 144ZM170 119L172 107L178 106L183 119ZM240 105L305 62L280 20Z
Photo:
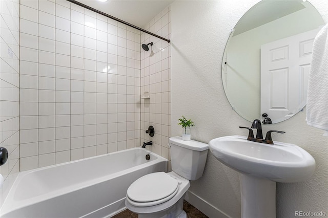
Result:
M276 217L276 182L239 173L241 218Z

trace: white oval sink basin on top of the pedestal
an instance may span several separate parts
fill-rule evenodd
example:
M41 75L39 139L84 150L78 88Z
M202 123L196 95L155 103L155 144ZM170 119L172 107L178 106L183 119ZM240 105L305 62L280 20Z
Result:
M294 144L264 144L244 136L226 136L209 142L216 159L238 172L275 182L301 182L315 170L314 158Z

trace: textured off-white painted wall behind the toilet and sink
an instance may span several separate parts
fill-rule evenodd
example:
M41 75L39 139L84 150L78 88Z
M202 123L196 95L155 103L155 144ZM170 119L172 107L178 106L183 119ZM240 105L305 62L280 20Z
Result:
M202 142L228 135L247 135L241 126L251 123L233 110L224 94L221 59L231 29L258 0L176 1L171 5L172 80L171 135L180 135L181 115L195 122L192 138ZM328 2L311 0L325 22ZM314 176L301 183L277 184L277 217L294 211L328 212L328 138L306 125L305 111L282 123L264 126L263 132L283 130L274 140L294 143L316 159ZM230 217L240 216L238 174L209 153L204 175L190 191ZM219 214L218 214L219 215Z

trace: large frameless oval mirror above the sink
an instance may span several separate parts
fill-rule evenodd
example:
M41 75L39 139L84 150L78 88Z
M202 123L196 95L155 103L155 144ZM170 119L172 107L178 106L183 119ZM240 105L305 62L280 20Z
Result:
M249 121L267 116L264 124L301 111L313 40L323 25L315 7L302 0L263 0L247 11L222 60L222 82L232 108Z

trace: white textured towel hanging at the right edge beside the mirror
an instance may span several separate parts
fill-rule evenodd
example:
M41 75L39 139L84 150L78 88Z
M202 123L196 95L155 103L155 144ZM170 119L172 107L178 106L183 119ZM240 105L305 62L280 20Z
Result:
M313 42L306 122L328 131L328 24L319 31ZM328 136L328 132L324 135Z

